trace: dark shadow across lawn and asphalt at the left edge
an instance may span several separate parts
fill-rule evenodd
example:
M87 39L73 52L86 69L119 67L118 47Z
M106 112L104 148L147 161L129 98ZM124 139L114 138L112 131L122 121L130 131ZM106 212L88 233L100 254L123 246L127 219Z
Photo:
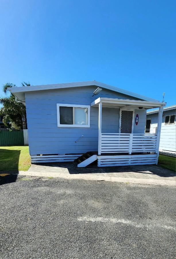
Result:
M17 174L19 172L18 171L19 157L20 157L20 150L0 149L0 185L8 184L16 181ZM6 168L13 168L13 169L6 170Z

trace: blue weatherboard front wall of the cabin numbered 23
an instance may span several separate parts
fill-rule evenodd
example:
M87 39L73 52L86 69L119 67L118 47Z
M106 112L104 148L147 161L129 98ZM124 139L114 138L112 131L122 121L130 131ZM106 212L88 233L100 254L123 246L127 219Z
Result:
M90 105L98 97L138 100L137 98L103 89L92 97L97 87L76 87L40 92L26 92L26 112L30 155L85 153L98 150L98 107L90 108L90 128L57 127L57 103ZM135 111L136 113L136 111ZM137 112L141 122L134 133L144 133L142 118L146 111ZM102 133L119 132L119 109L102 108ZM84 137L75 143L82 135Z

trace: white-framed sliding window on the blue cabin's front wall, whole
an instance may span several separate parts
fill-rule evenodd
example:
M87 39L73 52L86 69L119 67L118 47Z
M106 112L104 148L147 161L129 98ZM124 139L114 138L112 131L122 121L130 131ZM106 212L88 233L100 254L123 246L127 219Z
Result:
M90 106L57 103L58 127L90 127Z

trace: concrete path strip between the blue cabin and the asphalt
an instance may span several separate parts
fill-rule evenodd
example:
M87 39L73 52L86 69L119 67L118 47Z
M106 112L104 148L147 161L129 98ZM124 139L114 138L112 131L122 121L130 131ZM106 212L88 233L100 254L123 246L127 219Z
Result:
M173 171L156 165L77 168L74 163L43 163L32 164L19 175L159 185L175 185L176 181Z

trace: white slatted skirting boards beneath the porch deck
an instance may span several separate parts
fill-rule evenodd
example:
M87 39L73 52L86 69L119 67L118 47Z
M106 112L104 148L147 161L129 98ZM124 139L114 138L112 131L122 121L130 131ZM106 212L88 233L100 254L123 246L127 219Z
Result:
M152 165L157 163L157 154L97 156L98 167L122 165Z

